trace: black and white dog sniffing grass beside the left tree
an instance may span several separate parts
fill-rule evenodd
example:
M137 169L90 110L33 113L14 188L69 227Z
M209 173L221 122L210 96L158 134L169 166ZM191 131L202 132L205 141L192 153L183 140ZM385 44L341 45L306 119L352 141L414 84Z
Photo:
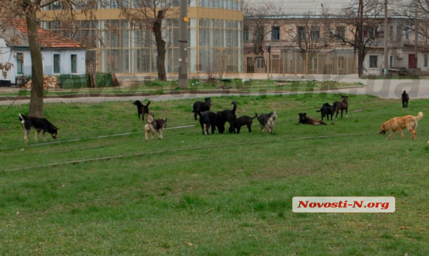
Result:
M40 131L42 132L43 141L46 141L45 133L49 132L52 138L56 138L58 129L56 126L52 125L45 118L36 118L31 116L25 116L23 114L19 114L19 121L22 124L22 130L24 131L24 141L27 143L27 137L30 133L30 129L34 128L36 130L35 140L37 142Z

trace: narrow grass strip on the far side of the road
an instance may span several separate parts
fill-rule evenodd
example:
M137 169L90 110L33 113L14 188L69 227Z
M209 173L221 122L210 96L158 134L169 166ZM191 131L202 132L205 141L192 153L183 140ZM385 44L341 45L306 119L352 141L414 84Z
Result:
M132 94L148 93L150 95L160 95L165 91L179 91L178 81L144 81L144 82L124 82L121 87L104 88L78 88L71 90L49 89L45 90L46 96L72 95L80 93L92 94ZM125 85L126 84L126 85ZM362 86L362 83L346 83L336 81L274 81L274 80L249 80L242 82L241 79L220 80L202 80L190 79L187 90L221 90L233 89L239 92L276 92L276 91L294 91L294 92L312 92L328 90L335 88L345 88L351 86ZM30 96L30 89L19 90L18 92L0 93L0 96Z

